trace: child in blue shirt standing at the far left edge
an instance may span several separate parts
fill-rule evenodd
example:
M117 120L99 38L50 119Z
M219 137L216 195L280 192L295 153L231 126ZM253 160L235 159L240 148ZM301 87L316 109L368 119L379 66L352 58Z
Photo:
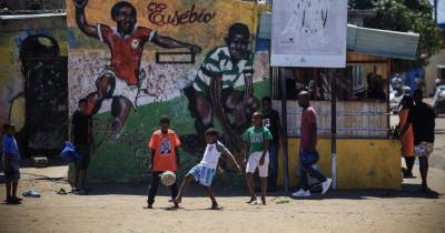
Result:
M17 188L19 185L20 169L19 169L19 148L13 136L16 128L12 124L3 124L3 169L4 183L7 188L8 204L20 204L21 199L17 197Z

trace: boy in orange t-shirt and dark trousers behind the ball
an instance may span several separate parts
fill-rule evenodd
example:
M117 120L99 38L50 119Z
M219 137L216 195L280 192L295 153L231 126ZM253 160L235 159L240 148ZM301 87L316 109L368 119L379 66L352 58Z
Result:
M161 116L159 124L160 130L154 132L150 142L148 143L148 148L151 151L149 171L152 173L152 180L148 192L147 209L152 209L162 172L176 172L180 165L178 154L180 141L175 131L169 129L170 119L168 119L168 116ZM178 184L175 182L170 189L171 199L175 199L178 195ZM175 207L179 207L179 205L175 204Z

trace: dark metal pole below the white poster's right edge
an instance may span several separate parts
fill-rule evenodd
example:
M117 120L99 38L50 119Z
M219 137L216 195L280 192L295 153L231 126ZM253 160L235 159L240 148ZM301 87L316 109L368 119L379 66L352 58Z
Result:
M330 149L332 149L332 171L333 171L333 190L337 189L337 79L334 75L334 69L328 69L330 78Z

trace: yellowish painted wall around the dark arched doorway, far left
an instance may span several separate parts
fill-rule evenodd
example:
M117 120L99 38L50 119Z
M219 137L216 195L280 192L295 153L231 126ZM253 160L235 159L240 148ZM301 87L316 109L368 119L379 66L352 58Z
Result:
M0 125L6 122L16 124L19 140L23 136L20 132L26 124L24 75L22 72L26 69L20 59L20 51L22 42L34 34L56 39L60 48L60 55L68 55L66 30L0 32Z

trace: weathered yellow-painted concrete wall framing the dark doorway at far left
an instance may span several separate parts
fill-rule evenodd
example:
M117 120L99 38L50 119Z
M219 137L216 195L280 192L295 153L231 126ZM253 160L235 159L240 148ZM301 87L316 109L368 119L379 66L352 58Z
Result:
M0 125L11 121L21 131L24 118L24 77L20 61L21 42L31 34L46 34L55 38L60 47L60 54L68 55L67 30L56 27L62 19L8 20L0 21ZM17 27L19 31L10 29ZM21 145L21 144L20 144Z

